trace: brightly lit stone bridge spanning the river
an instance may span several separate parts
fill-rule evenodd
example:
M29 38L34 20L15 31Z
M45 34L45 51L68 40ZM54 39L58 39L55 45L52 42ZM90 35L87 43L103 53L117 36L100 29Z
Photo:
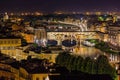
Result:
M76 40L77 42L86 40L86 39L99 39L99 36L96 32L47 32L47 40L56 40L58 45L61 45L63 40Z

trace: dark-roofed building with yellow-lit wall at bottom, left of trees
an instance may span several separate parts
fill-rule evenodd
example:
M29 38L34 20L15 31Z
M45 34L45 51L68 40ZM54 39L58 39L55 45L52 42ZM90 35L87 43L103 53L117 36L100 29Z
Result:
M46 59L31 59L32 61L25 60L21 63L19 74L25 80L45 80L49 74L58 75L59 73L51 73L52 66Z

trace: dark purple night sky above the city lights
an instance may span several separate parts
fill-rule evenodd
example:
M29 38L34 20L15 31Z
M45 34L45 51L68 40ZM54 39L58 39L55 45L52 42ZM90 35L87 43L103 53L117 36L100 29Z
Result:
M0 0L0 12L120 11L120 0Z

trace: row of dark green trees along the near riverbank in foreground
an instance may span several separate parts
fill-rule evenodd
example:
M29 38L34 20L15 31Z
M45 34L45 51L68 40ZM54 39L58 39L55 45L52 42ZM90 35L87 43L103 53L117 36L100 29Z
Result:
M56 63L66 67L71 71L80 71L89 74L109 74L116 77L116 70L109 64L108 58L104 55L99 56L96 60L81 56L74 56L67 52L60 53L56 58Z

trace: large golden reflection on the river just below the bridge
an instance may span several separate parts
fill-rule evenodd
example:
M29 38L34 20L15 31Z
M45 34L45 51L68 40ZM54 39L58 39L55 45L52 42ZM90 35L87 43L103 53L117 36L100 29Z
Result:
M72 48L64 47L64 49L67 49L67 50L69 49L72 52L72 54L80 55L83 58L85 58L85 57L96 58L99 55L103 54L102 51L100 51L99 49L96 49L95 47L87 47L87 46L83 46L83 45L75 46Z

